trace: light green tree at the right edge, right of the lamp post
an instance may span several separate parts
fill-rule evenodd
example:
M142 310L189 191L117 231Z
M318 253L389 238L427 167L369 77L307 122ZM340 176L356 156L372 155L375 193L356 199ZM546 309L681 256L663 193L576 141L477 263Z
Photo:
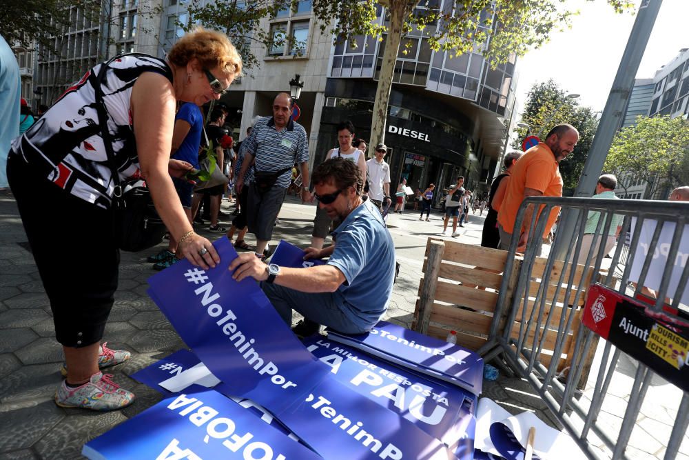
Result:
M615 134L605 171L617 174L626 188L626 178L650 184L646 197L659 188L689 183L689 121L669 116L637 117L637 124Z

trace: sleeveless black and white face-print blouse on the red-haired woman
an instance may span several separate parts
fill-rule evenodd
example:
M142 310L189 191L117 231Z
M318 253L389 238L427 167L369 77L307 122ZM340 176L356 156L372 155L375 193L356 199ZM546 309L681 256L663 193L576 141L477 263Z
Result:
M86 72L34 126L17 137L10 154L21 155L37 177L48 179L96 206L109 208L112 173L103 146L94 92L101 66L103 63ZM130 97L136 79L144 72L162 74L172 82L172 70L167 63L147 54L125 54L114 59L101 82L108 113L107 128L121 179L138 177L141 173Z

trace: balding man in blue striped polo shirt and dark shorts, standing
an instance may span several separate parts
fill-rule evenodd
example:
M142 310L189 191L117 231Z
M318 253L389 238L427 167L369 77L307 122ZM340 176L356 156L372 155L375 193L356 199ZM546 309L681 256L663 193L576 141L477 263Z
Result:
M289 187L291 168L298 163L302 174L301 197L311 201L309 192L309 142L306 130L291 119L292 100L281 92L273 101L273 116L263 117L254 125L246 143L245 161L237 179L241 192L244 174L254 165L254 181L248 184L247 223L256 235L256 256L265 257L264 250L273 236L273 226Z

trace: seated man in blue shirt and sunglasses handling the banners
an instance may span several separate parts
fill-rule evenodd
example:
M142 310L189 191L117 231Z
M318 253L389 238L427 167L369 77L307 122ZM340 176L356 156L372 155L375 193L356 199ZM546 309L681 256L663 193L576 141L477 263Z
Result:
M316 167L311 180L318 206L342 222L333 232L333 246L307 249L305 259L329 257L327 263L309 268L267 266L254 254L240 254L229 269L235 270L238 281L263 281L263 292L287 324L296 310L339 332L367 332L382 317L392 292L392 237L376 205L362 199L364 181L355 163L330 159Z

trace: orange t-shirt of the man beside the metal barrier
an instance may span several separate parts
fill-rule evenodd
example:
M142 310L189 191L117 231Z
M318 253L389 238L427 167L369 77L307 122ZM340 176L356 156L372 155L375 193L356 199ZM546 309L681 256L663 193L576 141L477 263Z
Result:
M544 143L539 143L528 150L517 160L510 181L507 185L505 198L500 205L500 212L497 213L497 221L508 233L514 233L517 211L524 201L524 188L533 188L543 192L544 197L562 197L562 176L555 161L553 151ZM541 209L539 209L539 214ZM551 232L559 207L551 210L548 216L543 237L548 237Z

